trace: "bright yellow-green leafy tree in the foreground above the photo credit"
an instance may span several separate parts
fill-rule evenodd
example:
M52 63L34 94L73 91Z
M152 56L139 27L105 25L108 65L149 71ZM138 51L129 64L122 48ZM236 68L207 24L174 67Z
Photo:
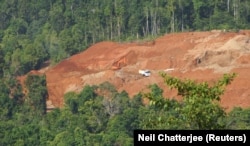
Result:
M233 81L236 74L225 74L213 86L209 86L207 82L196 83L192 80L181 80L171 77L166 73L161 73L164 82L175 88L178 95L183 97L180 107L175 107L175 111L180 112L180 119L187 129L223 129L225 123L222 122L226 116L225 111L220 107L218 101L224 93L225 86ZM151 100L151 103L166 108L169 101L153 96L153 94L145 94L145 97ZM165 112L167 112L165 110ZM162 121L161 117L158 118ZM164 120L163 120L164 121Z

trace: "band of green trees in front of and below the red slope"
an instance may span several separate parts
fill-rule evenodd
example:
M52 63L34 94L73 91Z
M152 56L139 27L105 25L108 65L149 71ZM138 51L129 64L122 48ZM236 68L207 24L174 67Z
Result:
M181 89L182 101L163 98L157 84L149 86L151 92L129 99L125 91L118 92L105 82L67 93L65 106L46 114L41 96L46 97L45 76L28 76L29 94L18 104L0 82L0 145L130 146L134 129L249 129L249 109L235 108L226 114L215 102L234 74L226 74L214 86L162 76L168 85ZM14 80L8 83L15 84ZM203 96L203 92L216 96ZM150 104L143 104L143 96Z

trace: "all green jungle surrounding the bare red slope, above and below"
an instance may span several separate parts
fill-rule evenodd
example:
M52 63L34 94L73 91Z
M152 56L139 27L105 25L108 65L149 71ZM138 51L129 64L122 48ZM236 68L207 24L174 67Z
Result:
M0 145L132 145L133 129L250 129L250 109L217 104L235 74L213 86L161 74L182 102L164 99L156 84L130 98L105 82L67 93L52 112L45 76L28 76L27 95L16 80L103 40L249 29L249 0L0 0L0 22Z

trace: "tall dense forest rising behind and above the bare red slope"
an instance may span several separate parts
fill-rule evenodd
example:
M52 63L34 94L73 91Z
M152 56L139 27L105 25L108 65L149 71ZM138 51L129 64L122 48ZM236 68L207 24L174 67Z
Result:
M103 40L248 29L249 6L249 1L2 0L0 46L5 59L1 61L0 51L0 67L21 75L46 60L57 63Z

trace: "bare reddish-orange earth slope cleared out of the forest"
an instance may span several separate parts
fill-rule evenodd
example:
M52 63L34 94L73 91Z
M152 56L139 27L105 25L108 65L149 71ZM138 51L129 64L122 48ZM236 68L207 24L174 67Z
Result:
M142 77L139 69L151 70L151 76ZM227 87L221 105L228 110L250 107L250 31L246 30L173 33L145 43L100 42L37 73L46 74L48 104L61 107L66 92L104 81L131 97L157 83L166 97L173 98L175 92L158 75L167 69L173 76L211 83L235 72L238 76Z

